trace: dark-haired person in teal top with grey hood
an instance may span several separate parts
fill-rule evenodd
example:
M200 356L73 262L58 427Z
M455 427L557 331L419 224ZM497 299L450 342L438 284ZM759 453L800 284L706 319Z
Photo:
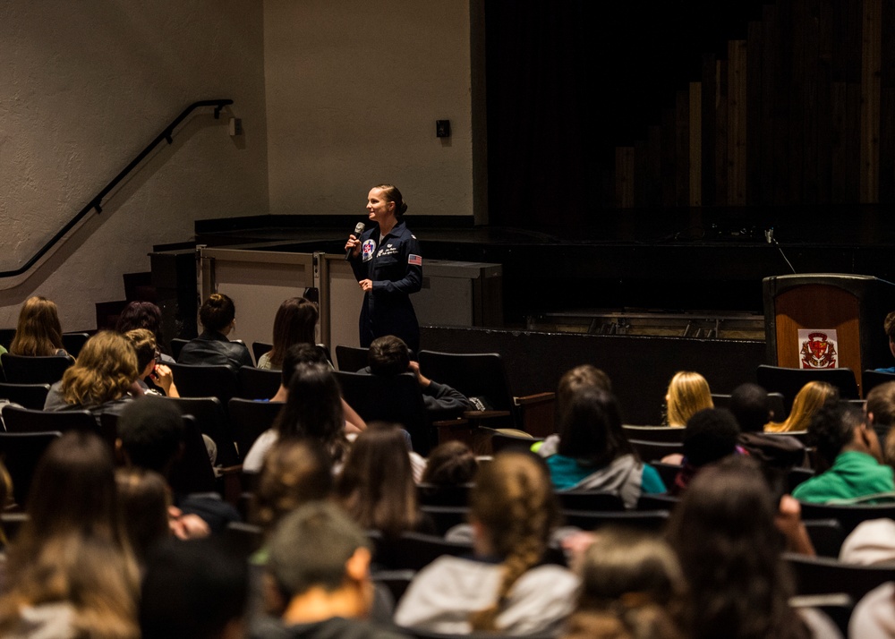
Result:
M644 493L665 492L659 473L637 456L621 425L616 398L583 386L560 415L559 434L533 447L557 490L611 490L633 508Z

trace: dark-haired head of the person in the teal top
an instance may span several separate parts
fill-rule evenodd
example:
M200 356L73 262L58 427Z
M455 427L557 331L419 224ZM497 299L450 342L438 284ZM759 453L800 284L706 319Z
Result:
M558 453L595 466L636 455L622 429L618 400L592 386L575 391L560 414Z

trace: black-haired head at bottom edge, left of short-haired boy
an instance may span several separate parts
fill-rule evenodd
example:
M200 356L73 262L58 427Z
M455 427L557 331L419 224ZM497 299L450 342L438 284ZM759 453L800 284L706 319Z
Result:
M142 639L243 636L226 630L243 623L248 584L246 562L213 540L161 544L143 576Z

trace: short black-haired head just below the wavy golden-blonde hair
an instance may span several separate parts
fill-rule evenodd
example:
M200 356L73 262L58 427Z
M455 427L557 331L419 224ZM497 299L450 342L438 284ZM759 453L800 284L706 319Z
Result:
M183 416L164 397L142 397L118 419L118 439L131 464L166 474L183 441Z

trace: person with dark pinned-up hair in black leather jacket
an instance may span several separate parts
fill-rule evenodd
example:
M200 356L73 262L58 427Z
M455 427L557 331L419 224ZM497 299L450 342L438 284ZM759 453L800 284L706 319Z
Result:
M231 342L227 336L236 326L236 307L225 294L209 296L199 310L202 333L183 345L177 361L182 364L226 365L234 371L251 366L251 354L242 342Z

